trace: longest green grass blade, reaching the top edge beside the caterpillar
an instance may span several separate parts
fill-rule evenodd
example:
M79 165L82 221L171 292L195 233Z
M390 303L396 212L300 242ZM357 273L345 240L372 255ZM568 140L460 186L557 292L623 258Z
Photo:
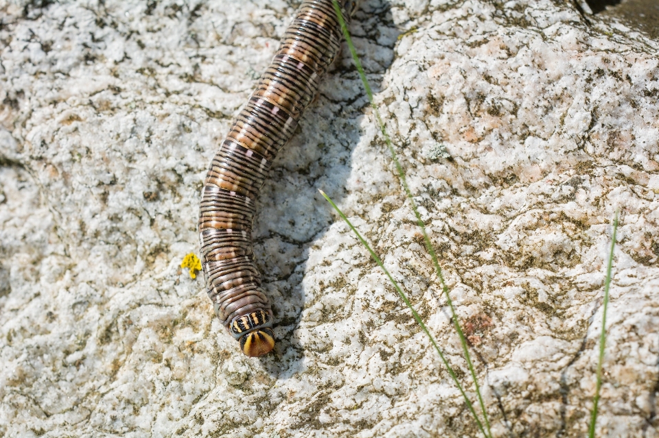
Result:
M428 251L428 254L430 254L430 257L432 258L432 263L435 265L435 271L437 271L437 276L439 277L439 281L441 283L442 291L444 295L446 295L446 301L448 302L448 305L451 309L451 315L453 319L453 326L458 333L460 337L460 342L462 344L462 350L465 355L465 361L467 361L467 366L469 367L470 374L472 375L472 380L474 381L474 387L476 389L476 396L478 396L478 404L481 405L481 411L483 411L483 418L485 419L485 426L487 428L487 435L488 437L492 436L492 433L489 428L489 419L487 417L487 411L485 410L485 402L483 402L483 396L481 396L481 387L478 385L478 378L476 378L476 370L474 369L474 365L472 363L472 359L469 354L469 347L467 345L467 339L465 338L465 334L462 331L462 328L460 326L460 321L458 318L458 315L455 312L455 308L453 306L453 302L451 300L451 297L449 295L448 287L446 286L446 281L444 280L443 273L441 271L441 267L439 267L439 260L437 258L437 253L435 252L435 249L432 247L432 243L430 242L430 237L428 237L428 232L426 232L426 225L424 224L424 221L421 219L421 215L419 214L419 210L417 208L417 204L414 201L414 197L412 194L412 191L410 190L410 187L407 184L407 178L405 176L405 172L403 170L402 165L400 164L400 161L398 160L396 156L395 149L393 148L393 145L391 143L391 138L389 138L389 134L386 132L386 128L384 127L384 123L382 123L382 117L380 117L380 110L378 110L378 107L375 106L375 102L373 101L373 92L371 91L371 86L369 86L369 82L366 78L366 74L364 73L364 69L362 67L362 64L357 56L357 51L355 50L354 45L352 44L352 40L350 38L350 34L348 32L348 29L345 25L345 20L343 19L343 16L340 12L340 8L338 3L336 3L336 0L332 0L332 3L334 3L334 10L336 11L336 16L338 17L338 21L341 25L341 29L343 29L343 35L345 36L345 42L347 43L350 53L352 54L352 58L355 62L355 66L357 67L357 71L359 72L359 75L362 79L362 82L364 84L364 88L366 90L366 94L369 97L369 102L371 103L371 108L373 108L373 114L375 114L375 120L378 122L378 125L380 127L380 132L382 132L382 136L384 136L384 141L386 142L386 147L389 149L389 153L391 154L391 158L395 164L396 171L398 173L398 177L400 178L400 182L405 190L405 193L410 201L410 204L412 206L412 210L414 211L414 215L417 218L417 224L419 228L421 229L421 233L424 236L424 243L426 244L426 250Z

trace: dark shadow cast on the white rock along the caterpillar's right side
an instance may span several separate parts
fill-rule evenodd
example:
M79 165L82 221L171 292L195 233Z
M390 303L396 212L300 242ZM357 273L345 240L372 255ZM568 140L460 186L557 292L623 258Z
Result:
M360 3L349 31L373 93L378 93L402 33L393 23L389 1ZM297 330L304 309L313 305L311 289L318 289L305 282L305 272L310 250L335 220L332 207L318 190L338 203L347 195L351 160L368 106L344 42L342 53L323 78L316 101L273 162L257 202L254 250L263 287L273 303L277 336L275 354L260 361L273 378L301 372L305 355L314 355L316 344L305 341Z

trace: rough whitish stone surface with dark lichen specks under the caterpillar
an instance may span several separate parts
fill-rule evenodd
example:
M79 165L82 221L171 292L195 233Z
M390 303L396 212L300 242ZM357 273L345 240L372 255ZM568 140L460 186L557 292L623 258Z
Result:
M659 43L575 4L368 0L351 27L494 435L584 435L619 207L598 436L658 437ZM316 191L469 386L346 53L259 201L275 354L242 356L178 267L207 164L296 5L0 2L1 436L477 436Z

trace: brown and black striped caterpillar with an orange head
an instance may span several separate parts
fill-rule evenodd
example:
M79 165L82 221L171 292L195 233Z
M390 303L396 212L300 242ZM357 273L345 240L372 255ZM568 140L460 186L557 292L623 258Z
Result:
M345 19L356 1L338 0ZM275 348L273 311L254 263L255 199L343 38L332 0L304 1L273 61L211 161L199 212L202 270L216 316L247 356Z

